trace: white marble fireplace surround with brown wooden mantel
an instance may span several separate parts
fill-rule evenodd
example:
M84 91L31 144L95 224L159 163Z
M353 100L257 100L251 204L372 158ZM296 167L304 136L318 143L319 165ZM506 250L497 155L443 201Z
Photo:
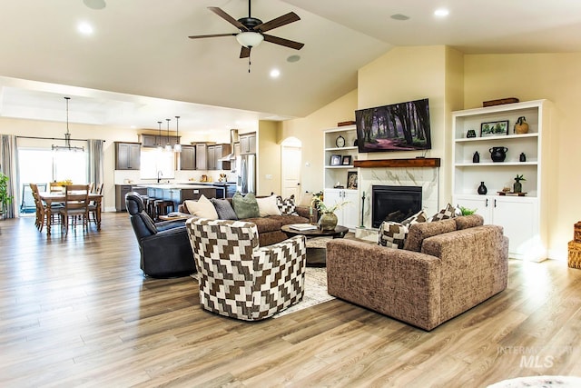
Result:
M428 216L438 213L439 158L358 160L359 193L365 193L363 226L358 228L360 238L369 234L377 239L377 228L371 227L371 186L420 186L422 209ZM364 232L365 231L365 232Z

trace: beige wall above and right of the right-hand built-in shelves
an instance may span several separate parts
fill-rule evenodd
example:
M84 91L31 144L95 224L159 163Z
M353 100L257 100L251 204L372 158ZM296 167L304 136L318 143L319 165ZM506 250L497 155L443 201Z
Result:
M465 107L483 101L517 97L520 101L548 99L554 104L549 153L543 159L549 179L549 257L566 260L573 224L581 220L581 131L576 124L581 101L581 53L524 55L465 55ZM526 183L525 183L526 184Z

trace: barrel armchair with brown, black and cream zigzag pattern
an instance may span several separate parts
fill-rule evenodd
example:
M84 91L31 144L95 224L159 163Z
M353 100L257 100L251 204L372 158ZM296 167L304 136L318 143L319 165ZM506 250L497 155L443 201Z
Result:
M257 321L302 300L304 236L259 247L258 229L252 223L192 218L186 228L204 309Z

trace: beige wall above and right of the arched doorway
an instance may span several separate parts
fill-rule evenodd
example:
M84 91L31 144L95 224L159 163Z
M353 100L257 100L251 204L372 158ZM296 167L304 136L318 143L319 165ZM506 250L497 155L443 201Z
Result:
M323 189L323 130L355 120L356 109L357 90L354 90L307 117L282 123L279 144L289 137L296 137L301 142L302 193L316 193Z

